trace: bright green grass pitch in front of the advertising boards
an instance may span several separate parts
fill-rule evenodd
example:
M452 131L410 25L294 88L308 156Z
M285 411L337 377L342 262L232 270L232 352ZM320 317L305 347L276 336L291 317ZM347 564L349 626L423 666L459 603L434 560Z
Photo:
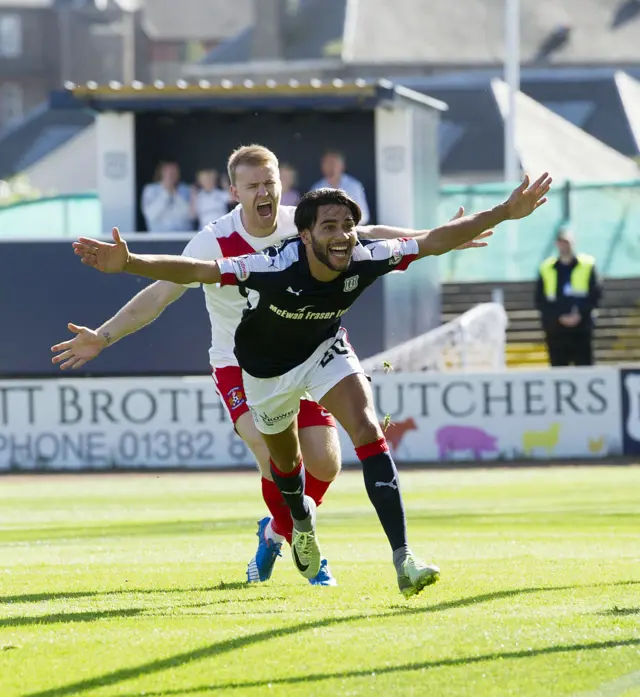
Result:
M640 468L402 481L442 569L410 601L358 472L318 516L337 588L288 551L244 584L254 474L0 478L0 697L640 695Z

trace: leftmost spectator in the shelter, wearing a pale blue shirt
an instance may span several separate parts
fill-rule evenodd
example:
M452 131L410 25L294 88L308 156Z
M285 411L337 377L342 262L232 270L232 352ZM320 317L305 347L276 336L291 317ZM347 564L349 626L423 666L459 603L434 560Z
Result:
M191 192L180 181L177 162L161 162L152 184L142 191L142 214L148 232L190 232L193 230Z

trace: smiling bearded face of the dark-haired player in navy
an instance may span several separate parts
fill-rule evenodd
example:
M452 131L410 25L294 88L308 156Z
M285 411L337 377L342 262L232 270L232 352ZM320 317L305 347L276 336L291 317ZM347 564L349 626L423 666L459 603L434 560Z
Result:
M332 271L346 271L357 242L356 223L347 206L320 206L311 231L314 255Z

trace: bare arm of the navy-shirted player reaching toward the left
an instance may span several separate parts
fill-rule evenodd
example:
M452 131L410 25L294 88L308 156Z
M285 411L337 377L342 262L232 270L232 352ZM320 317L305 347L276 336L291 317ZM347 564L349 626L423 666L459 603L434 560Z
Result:
M73 250L83 264L103 273L124 272L180 285L220 283L220 268L215 261L171 254L132 254L118 228L113 228L112 234L114 244L81 237L73 243Z

